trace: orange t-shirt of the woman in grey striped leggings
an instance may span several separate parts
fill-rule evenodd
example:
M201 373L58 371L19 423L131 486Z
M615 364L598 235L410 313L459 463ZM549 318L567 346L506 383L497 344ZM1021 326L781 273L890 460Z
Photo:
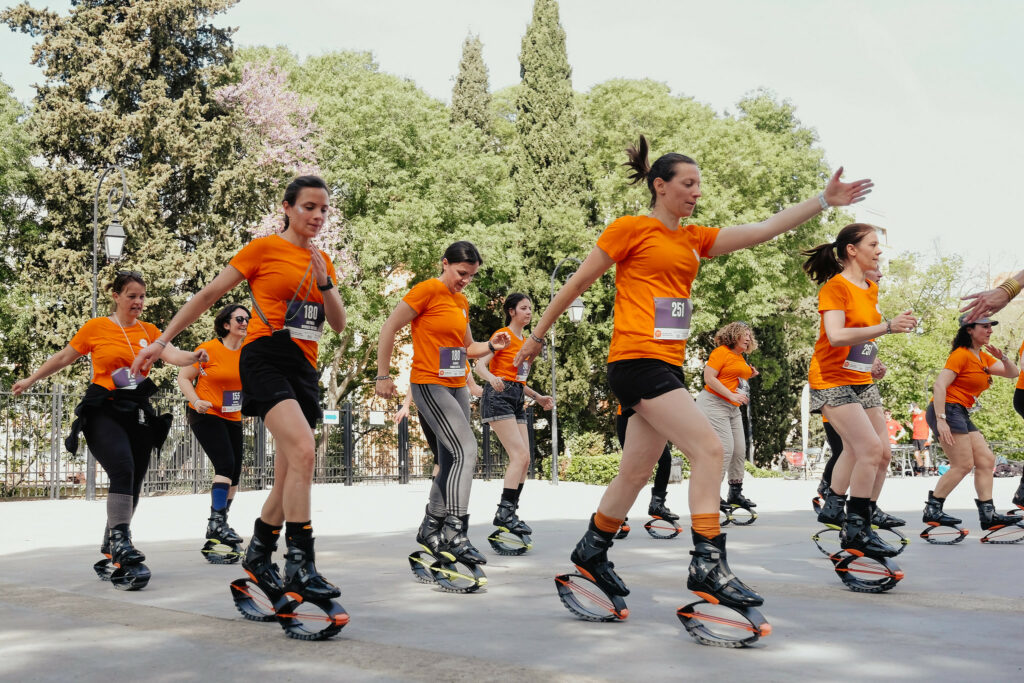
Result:
M466 327L469 301L436 278L409 291L402 301L416 311L413 318L414 384L466 386Z

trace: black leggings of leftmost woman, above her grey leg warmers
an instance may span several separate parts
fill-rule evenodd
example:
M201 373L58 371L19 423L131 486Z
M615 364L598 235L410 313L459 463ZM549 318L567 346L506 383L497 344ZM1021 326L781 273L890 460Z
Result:
M110 411L99 408L89 413L82 426L89 451L111 481L109 493L131 496L134 505L138 505L153 454L150 427L138 424L136 415L118 414L115 418Z

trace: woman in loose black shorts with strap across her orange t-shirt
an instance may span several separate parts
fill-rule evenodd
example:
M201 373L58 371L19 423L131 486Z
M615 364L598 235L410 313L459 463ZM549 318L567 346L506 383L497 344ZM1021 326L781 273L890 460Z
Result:
M243 247L181 307L157 340L170 341L242 281L248 281L256 317L249 323L239 358L242 414L262 418L276 452L273 487L254 524L242 567L261 587L296 593L310 601L341 594L316 570L309 508L313 428L324 415L316 372L318 341L325 323L335 332L345 329L345 304L335 287L331 257L312 244L324 227L330 204L322 178L303 175L292 180L282 202L284 231ZM154 349L137 362L143 366L159 355L160 349ZM284 578L271 561L283 526L288 545Z

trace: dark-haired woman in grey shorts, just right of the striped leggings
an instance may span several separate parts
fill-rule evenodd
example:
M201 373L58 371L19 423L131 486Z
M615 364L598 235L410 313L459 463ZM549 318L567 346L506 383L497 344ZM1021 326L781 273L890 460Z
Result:
M550 411L555 400L526 386L529 364L513 366L512 358L519 352L526 336L526 326L534 317L534 304L525 294L510 294L502 304L505 311L505 326L498 333L509 335L511 343L500 351L483 356L476 361L476 374L486 384L483 385L483 399L480 401L480 417L498 434L505 452L509 454L509 465L505 470L505 486L501 502L495 513L495 525L504 526L512 533L528 535L534 530L519 519L519 496L529 470L529 433L526 431L526 414L523 411L525 396L529 396L546 411Z

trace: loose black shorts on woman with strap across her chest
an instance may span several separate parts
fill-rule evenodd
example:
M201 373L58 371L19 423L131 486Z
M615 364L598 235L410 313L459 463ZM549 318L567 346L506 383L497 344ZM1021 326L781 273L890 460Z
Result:
M271 408L294 398L310 429L324 418L319 376L287 330L242 347L242 414L263 419Z

